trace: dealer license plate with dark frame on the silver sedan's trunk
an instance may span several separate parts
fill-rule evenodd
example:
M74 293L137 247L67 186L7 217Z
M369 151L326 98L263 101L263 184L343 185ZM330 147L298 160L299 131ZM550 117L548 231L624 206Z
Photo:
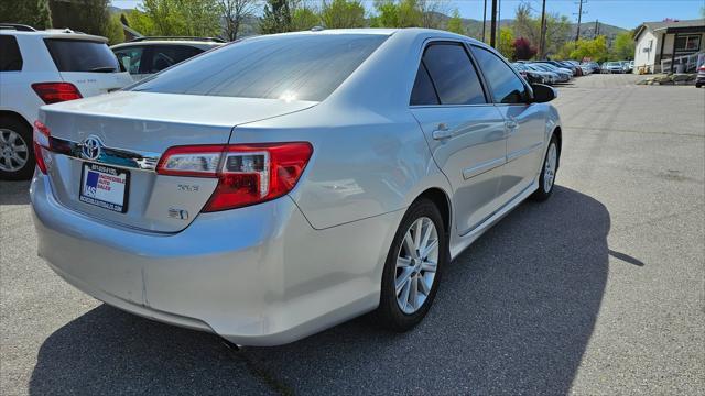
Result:
M88 180L88 176L90 176L90 180ZM98 188L99 183L102 186L101 188ZM78 187L78 200L84 204L97 206L118 213L126 213L128 211L130 170L84 162L80 165L80 184ZM107 190L106 187L108 188ZM115 191L111 193L113 188ZM122 189L121 197L120 188ZM119 197L119 199L116 196Z

